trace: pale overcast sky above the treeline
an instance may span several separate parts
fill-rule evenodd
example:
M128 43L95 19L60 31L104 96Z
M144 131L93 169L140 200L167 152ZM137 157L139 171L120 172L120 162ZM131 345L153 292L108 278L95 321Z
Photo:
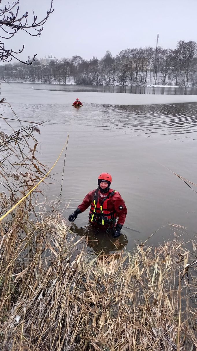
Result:
M29 22L32 9L41 19L49 7L50 0L20 0ZM20 33L7 41L9 48L25 45L21 59L35 53L38 59L49 54L100 59L106 50L117 55L126 48L155 47L157 32L163 48L175 48L178 40L197 41L197 0L54 0L53 7L40 39Z

